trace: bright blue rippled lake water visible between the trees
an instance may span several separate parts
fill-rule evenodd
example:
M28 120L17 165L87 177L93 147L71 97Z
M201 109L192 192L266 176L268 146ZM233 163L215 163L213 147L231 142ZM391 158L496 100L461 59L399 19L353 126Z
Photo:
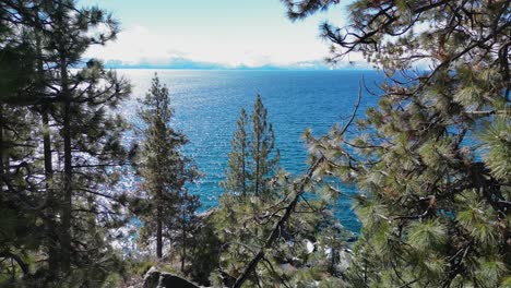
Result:
M249 112L260 94L273 123L281 166L299 175L307 169L307 152L300 135L310 128L314 135L343 123L352 113L363 76L375 87L381 75L375 71L186 71L186 70L120 70L133 86L133 96L142 97L157 72L171 95L174 124L190 143L185 153L191 156L204 173L190 185L199 194L202 208L217 205L222 194L219 182L227 166L230 139L241 108ZM376 96L363 93L359 117L365 108L376 105ZM134 119L131 104L123 113ZM342 225L358 231L359 221L352 211L349 196L357 191L341 187L344 195L334 209Z

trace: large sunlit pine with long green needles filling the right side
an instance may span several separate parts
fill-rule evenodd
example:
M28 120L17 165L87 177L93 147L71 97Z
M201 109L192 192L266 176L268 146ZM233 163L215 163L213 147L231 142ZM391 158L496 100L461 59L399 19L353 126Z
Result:
M296 20L338 1L285 0ZM322 25L335 61L388 76L360 136L313 140L319 175L360 190L354 287L511 284L510 1L369 1ZM428 27L428 28L425 28ZM417 67L428 64L428 70Z

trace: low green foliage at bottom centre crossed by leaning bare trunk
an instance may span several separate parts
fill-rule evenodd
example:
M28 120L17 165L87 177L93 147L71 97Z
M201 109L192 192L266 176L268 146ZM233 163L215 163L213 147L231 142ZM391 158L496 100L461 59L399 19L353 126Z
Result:
M224 194L219 207L211 216L215 235L221 242L218 268L212 273L214 286L229 286L243 272L257 251L265 244L269 235L281 219L289 199L293 199L293 183L287 177L274 185L273 201L258 196L240 197ZM247 287L258 285L282 285L309 287L313 284L333 285L338 251L345 243L345 231L322 200L300 202L286 228L281 230L278 240L265 250L264 259L246 283ZM312 249L312 250L311 250ZM330 251L330 252L326 252ZM338 281L337 281L338 280ZM325 286L328 287L328 286Z

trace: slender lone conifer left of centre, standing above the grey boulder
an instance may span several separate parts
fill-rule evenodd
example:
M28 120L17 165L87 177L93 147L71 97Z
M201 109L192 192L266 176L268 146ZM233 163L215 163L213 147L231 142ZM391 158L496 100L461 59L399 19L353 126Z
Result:
M145 128L138 166L142 177L140 190L150 207L140 211L144 220L142 236L144 240L156 237L156 256L162 259L164 232L170 236L170 229L178 225L177 219L191 217L190 209L197 206L190 205L197 199L186 197L185 184L192 182L198 173L191 166L191 159L180 152L188 140L170 125L174 115L170 97L157 75L141 105L139 117ZM181 228L188 228L185 220Z

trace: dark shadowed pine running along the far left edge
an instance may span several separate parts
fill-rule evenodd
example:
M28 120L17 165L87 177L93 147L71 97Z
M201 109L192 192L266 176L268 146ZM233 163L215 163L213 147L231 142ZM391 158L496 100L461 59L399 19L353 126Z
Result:
M8 272L10 285L20 274L31 274L29 253L41 249L47 239L40 227L45 208L38 185L36 161L37 113L25 100L26 91L36 84L35 47L31 34L17 29L16 10L0 4L0 274ZM8 260L8 261L5 261ZM11 261L9 261L11 260ZM11 264L7 264L11 262ZM0 285L3 285L0 277Z

